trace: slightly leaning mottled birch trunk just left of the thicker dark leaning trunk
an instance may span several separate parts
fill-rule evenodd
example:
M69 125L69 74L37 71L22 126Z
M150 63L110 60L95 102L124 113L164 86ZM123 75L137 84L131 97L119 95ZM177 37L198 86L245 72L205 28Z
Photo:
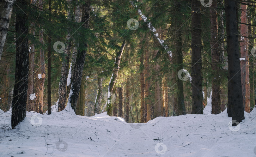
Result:
M72 0L69 0L68 3L71 3ZM69 5L70 6L70 5ZM71 18L71 11L68 10L68 20ZM67 78L69 75L69 58L70 58L70 50L71 50L71 40L70 33L67 34L66 37L66 48L64 50L64 59L62 61L61 67L61 77L59 80L59 101L58 101L58 112L64 110L67 102ZM71 68L71 66L70 66Z

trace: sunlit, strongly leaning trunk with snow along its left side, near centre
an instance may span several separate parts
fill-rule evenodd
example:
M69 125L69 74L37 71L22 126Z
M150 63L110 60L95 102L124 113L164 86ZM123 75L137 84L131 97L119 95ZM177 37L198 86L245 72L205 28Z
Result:
M116 60L115 60L115 66L114 66L114 69L113 69L113 74L110 78L110 81L109 81L109 84L108 84L108 93L107 93L107 115L111 116L112 114L112 105L111 105L111 99L112 99L112 96L111 96L111 93L113 93L113 88L115 86L115 83L117 81L117 77L118 77L118 71L119 71L119 65L120 65L120 61L121 61L121 57L122 57L122 54L123 54L123 51L124 51L124 48L125 48L125 45L126 45L126 41L124 40L123 41L123 44L121 45L121 48L119 50L119 52L117 52L117 55L116 55Z

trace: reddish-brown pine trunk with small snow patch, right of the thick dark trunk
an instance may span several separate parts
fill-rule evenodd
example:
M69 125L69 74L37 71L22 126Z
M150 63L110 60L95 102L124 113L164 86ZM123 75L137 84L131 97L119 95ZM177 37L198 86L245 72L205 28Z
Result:
M241 23L248 23L247 20L247 5L241 4ZM250 112L250 83L249 83L249 56L248 56L248 26L245 24L240 25L241 42L240 52L241 59L241 83L243 94L243 106L246 112Z

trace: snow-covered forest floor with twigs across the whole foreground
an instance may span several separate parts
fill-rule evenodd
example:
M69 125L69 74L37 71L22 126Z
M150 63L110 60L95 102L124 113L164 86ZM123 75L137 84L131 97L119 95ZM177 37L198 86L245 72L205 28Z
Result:
M27 112L11 130L10 112L0 111L0 157L253 157L256 156L256 110L230 127L218 115L158 117L127 124L107 113L84 117L62 111Z

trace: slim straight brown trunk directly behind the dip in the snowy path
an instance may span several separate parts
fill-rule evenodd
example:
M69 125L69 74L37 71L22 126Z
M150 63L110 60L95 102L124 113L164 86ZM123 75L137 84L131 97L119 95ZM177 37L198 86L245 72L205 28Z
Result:
M145 122L145 80L144 80L144 57L143 54L141 54L140 56L140 123L144 123Z

